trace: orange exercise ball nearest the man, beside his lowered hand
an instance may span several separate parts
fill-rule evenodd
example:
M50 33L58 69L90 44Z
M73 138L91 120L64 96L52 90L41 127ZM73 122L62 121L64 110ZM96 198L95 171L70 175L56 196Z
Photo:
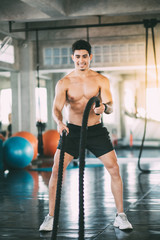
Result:
M59 142L60 134L57 130L47 130L43 133L43 154L53 157Z

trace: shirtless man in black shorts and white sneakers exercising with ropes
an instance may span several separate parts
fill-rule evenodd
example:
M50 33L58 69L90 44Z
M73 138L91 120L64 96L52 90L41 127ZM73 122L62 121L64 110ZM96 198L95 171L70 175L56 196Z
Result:
M64 171L73 158L78 157L80 129L86 104L91 97L99 96L100 106L95 107L94 104L88 118L87 148L102 161L110 173L111 189L117 208L114 226L123 230L132 229L132 225L123 210L123 187L117 157L108 131L101 124L100 114L110 114L113 111L109 80L89 68L92 54L91 46L88 42L84 40L75 42L72 45L72 53L75 69L58 81L53 103L53 117L57 123L58 131L61 135L64 129L67 131ZM67 125L63 122L62 116L64 106L68 110ZM49 181L49 214L40 226L40 231L52 230L59 156L60 143L54 156L54 165Z

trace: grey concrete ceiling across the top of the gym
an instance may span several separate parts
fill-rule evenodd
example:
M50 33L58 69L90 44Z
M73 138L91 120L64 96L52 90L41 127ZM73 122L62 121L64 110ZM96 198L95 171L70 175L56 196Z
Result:
M0 21L38 22L160 13L160 0L0 0Z

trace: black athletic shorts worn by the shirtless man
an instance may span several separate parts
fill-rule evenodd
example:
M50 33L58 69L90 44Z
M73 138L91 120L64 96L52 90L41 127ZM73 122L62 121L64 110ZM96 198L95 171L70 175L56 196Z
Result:
M67 127L69 128L69 134L66 136L65 140L65 152L72 155L74 158L78 158L81 126L68 123ZM61 148L61 141L62 138L60 137L58 149ZM113 150L109 132L101 123L87 128L86 149L92 152L96 157L100 157Z

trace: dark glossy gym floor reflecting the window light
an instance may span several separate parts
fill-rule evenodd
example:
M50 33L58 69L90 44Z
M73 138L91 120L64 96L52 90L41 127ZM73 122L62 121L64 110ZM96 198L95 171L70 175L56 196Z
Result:
M117 149L124 185L124 208L131 231L113 227L116 214L110 177L96 158L86 158L85 239L160 239L160 150L145 149L137 167L138 150ZM31 169L0 173L0 239L48 240L51 232L39 232L48 214L48 182L51 159L35 160ZM62 188L57 240L78 239L78 167L67 168ZM38 171L35 171L38 170ZM155 171L158 170L158 171Z

